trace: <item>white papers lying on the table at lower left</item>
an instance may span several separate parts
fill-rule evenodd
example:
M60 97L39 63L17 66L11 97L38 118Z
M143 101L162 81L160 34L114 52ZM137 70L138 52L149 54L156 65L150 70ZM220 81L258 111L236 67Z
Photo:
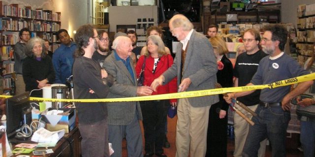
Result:
M40 128L32 135L32 141L44 142L44 143L57 143L64 135L64 130L60 131L48 131L44 128Z

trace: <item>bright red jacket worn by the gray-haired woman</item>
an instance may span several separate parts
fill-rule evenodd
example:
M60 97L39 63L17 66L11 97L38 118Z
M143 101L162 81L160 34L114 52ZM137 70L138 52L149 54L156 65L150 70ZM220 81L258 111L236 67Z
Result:
M137 78L139 78L143 61L144 61L145 55L142 55L136 65L136 74ZM162 75L169 67L171 67L173 64L173 57L170 54L163 55L160 57L160 60L158 62L158 65L156 67L156 71L153 74L153 66L154 66L154 58L149 56L146 59L146 65L144 68L144 85L150 86L151 83L155 78L158 78L160 75ZM168 82L165 85L158 86L157 92L153 91L152 95L158 95L158 94L167 94L167 93L176 93L177 92L177 78L175 77L170 82ZM171 99L170 102L177 102L177 99Z

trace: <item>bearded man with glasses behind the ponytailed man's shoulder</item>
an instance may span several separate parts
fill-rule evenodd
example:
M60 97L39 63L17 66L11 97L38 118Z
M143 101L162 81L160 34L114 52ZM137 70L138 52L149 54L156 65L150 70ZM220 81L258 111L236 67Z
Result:
M97 63L99 63L99 65L102 67L105 58L112 52L109 51L109 47L108 47L109 38L108 38L107 31L99 30L97 31L97 34L99 35L98 49L93 53L92 59L97 61Z

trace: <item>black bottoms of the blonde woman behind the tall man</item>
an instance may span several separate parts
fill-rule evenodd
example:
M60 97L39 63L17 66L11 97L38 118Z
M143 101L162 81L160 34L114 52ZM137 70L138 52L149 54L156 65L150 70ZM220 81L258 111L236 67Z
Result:
M218 107L218 103L210 107L206 157L227 156L227 112L226 116L220 119L216 111Z

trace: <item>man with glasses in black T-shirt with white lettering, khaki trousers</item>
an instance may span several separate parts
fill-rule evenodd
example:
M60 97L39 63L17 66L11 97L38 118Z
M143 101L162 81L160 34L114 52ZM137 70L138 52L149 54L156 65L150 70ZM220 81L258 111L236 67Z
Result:
M256 73L259 61L267 56L266 53L259 49L260 35L255 29L247 29L244 32L243 42L246 52L241 53L236 58L236 63L233 71L235 77L234 86L245 86L250 83L252 76ZM259 104L260 90L256 90L252 94L237 98L238 101L247 105L253 111L256 110ZM252 115L245 111L242 107L239 110L252 118ZM242 151L245 140L250 128L250 125L239 114L234 114L234 134L235 134L235 149L234 157L242 157ZM265 157L266 141L260 143L258 157Z

